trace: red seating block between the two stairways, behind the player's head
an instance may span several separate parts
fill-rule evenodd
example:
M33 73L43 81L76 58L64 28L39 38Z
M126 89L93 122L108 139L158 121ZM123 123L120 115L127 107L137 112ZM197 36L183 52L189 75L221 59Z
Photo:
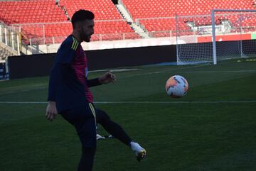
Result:
M87 9L95 13L95 35L92 40L122 40L140 38L127 25L112 1L97 0L63 0L60 6L65 6L70 16L78 9ZM124 33L124 34L122 34Z

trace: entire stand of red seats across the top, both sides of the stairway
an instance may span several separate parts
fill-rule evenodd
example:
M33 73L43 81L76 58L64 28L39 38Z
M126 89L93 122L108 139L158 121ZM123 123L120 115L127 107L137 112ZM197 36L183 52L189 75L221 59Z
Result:
M178 19L178 16L209 15L211 9L255 9L255 0L122 0L134 22L151 37L176 35L176 30L192 34L191 26L209 26L210 16ZM60 43L72 31L68 21L78 9L95 13L95 35L92 40L122 40L142 38L127 24L111 0L25 0L0 1L0 21L21 28L23 43ZM145 19L147 18L147 19ZM215 21L230 21L239 26L239 16L216 16ZM256 18L245 17L242 25L250 30Z

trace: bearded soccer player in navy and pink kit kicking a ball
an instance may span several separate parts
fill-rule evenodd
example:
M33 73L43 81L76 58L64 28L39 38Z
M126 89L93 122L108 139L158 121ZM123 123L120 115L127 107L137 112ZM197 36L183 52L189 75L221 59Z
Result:
M95 79L87 79L87 57L80 43L90 42L94 33L94 14L91 11L79 10L74 13L71 21L73 33L60 45L50 73L46 118L52 121L60 114L75 126L82 143L78 171L92 170L97 123L114 138L132 148L138 161L142 160L146 150L134 142L121 126L114 123L105 111L95 108L93 104L89 87L116 80L111 72Z

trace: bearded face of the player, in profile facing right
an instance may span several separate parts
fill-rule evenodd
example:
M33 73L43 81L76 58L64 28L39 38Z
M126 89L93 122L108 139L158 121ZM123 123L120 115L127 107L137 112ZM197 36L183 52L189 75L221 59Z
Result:
M85 42L90 42L91 35L94 33L94 21L85 20L79 23L80 39Z

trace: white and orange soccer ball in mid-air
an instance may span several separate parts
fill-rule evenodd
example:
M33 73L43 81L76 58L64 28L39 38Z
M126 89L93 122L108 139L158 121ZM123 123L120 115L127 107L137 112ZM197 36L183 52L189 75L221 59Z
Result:
M188 92L188 82L181 75L174 75L166 81L166 93L173 97L179 98L185 96Z

